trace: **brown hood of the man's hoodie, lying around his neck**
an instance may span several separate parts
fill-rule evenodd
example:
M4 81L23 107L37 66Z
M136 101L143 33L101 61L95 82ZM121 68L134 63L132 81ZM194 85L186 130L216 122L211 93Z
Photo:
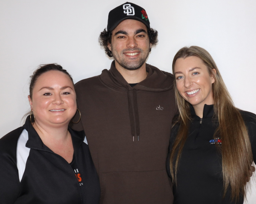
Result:
M120 72L116 69L115 61L112 62L110 70L103 70L99 76L102 83L116 91L127 91L129 89L137 89L143 91L161 92L173 89L174 77L172 74L161 71L157 67L146 64L147 78L139 82L136 86L129 86ZM154 83L152 83L154 82Z

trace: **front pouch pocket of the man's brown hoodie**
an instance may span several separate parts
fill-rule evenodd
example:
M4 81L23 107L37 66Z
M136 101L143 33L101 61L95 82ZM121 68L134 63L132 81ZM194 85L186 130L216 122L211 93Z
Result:
M102 173L101 204L172 202L172 187L166 170Z

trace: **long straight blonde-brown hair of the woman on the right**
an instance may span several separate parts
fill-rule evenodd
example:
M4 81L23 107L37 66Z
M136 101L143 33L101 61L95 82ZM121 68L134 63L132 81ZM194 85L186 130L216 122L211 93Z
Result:
M215 82L212 84L212 95L214 99L214 116L218 118L219 126L214 133L214 137L218 135L222 139L222 145L216 145L222 155L223 197L230 187L231 200L238 201L241 195L246 197L248 185L245 184L247 178L250 177L253 162L251 143L244 120L239 110L234 106L214 60L203 48L197 46L181 48L173 59L173 73L176 60L189 56L200 58L207 66L209 74L215 78ZM216 74L212 69L216 70ZM173 183L177 185L178 162L187 139L191 113L189 103L178 93L176 82L174 82L174 90L180 111L180 115L174 125L178 123L180 127L170 153L170 171Z

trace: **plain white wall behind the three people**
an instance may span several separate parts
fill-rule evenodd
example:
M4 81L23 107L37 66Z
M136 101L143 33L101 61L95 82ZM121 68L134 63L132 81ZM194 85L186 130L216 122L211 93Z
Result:
M148 14L159 43L147 63L171 72L184 46L214 58L235 105L256 113L255 0L133 0ZM29 76L42 63L59 63L74 81L109 69L98 43L108 12L120 0L0 0L0 137L20 126L29 110ZM248 203L256 203L256 184ZM254 201L253 201L254 200Z

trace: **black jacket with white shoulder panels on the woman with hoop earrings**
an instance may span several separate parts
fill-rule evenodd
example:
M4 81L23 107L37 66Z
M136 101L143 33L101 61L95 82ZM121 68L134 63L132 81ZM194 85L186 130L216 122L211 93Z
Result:
M1 204L99 203L99 179L84 132L68 130L78 178L63 157L43 144L28 118L22 127L0 139Z

